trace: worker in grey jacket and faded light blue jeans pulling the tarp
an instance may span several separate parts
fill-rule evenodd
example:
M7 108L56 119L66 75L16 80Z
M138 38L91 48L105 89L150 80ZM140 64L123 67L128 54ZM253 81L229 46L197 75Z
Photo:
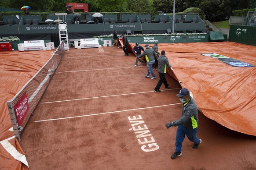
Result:
M152 65L155 63L155 60L157 60L157 55L153 49L150 48L148 44L145 45L145 50L142 54L138 56L138 58L141 58L145 56L146 58L146 68L147 68L147 73L144 75L144 77L149 78L149 75L151 73L152 78L151 79L156 79L156 75L154 74Z

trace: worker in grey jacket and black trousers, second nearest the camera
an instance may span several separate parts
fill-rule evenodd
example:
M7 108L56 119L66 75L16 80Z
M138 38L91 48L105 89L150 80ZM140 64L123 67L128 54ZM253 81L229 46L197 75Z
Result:
M161 51L161 56L158 58L158 73L159 73L159 81L157 86L154 89L154 92L161 92L160 87L164 83L165 89L168 89L168 83L165 78L166 67L171 68L172 66L169 64L168 58L165 57L165 51Z

